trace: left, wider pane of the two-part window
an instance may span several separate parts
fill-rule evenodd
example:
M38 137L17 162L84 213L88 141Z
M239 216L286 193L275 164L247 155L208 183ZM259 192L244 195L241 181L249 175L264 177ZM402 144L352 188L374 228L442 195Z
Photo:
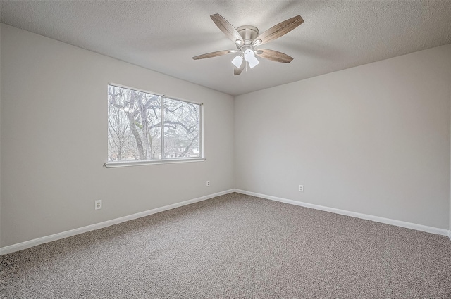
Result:
M161 159L161 97L108 87L108 160Z

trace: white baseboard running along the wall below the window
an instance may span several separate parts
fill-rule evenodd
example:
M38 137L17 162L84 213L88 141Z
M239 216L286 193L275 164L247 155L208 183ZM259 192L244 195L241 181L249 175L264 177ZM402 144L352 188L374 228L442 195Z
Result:
M48 242L51 242L51 241L56 241L56 240L59 240L61 238L67 238L69 236L75 236L77 234L82 234L82 233L85 233L87 231L94 231L96 229L109 227L109 226L111 226L113 224L118 224L118 223L126 222L126 221L129 221L129 220L134 220L134 219L137 219L137 218L140 218L140 217L152 215L152 214L155 214L155 213L158 213L158 212L163 212L163 211L166 211L166 210L171 210L171 209L174 209L174 208L181 207L183 205L190 205L191 203L197 203L199 201L205 201L205 200L207 200L209 198L214 198L216 196L221 196L221 195L225 195L225 194L232 193L232 192L235 192L235 189L230 189L230 190L227 190L227 191L214 193L214 194L210 194L210 195L207 195L207 196L202 196L202 197L199 197L199 198L193 198L193 199L190 199L188 201L182 201L181 203L173 203L172 205L165 205L164 207L161 207L161 208L155 208L155 209L152 209L152 210L147 210L147 211L139 212L139 213L132 214L132 215L119 217L119 218L116 218L116 219L113 219L113 220L107 220L107 221L104 221L104 222L91 224L91 225L88 225L86 227L80 227L78 229L70 229L70 231L63 231L63 232L58 233L58 234L52 234L50 236L43 236L42 238L35 238L33 240L30 240L30 241L25 241L25 242L13 244L13 245L10 245L10 246L5 246L5 247L0 248L0 255L6 255L7 253L13 253L13 252L18 251L18 250L23 250L23 249L30 248L30 247L33 247L33 246L37 246L39 244L48 243Z

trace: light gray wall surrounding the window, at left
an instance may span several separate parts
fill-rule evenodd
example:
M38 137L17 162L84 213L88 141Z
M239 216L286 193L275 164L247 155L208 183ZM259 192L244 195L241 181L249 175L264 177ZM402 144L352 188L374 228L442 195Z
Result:
M1 247L233 189L233 96L3 24L1 79ZM206 161L103 167L109 82L204 103Z

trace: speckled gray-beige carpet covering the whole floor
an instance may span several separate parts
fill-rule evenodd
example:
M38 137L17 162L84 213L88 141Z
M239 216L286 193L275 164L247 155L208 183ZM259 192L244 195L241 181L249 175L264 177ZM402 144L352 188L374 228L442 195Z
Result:
M6 298L451 298L445 236L230 193L0 257Z

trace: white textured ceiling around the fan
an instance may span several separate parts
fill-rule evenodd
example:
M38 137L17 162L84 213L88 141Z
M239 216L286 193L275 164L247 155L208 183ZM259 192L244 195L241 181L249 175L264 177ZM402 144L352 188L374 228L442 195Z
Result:
M295 15L304 23L265 44L291 63L259 58L233 75L234 49L213 23L264 32ZM451 43L451 1L4 1L1 23L172 77L238 95Z

